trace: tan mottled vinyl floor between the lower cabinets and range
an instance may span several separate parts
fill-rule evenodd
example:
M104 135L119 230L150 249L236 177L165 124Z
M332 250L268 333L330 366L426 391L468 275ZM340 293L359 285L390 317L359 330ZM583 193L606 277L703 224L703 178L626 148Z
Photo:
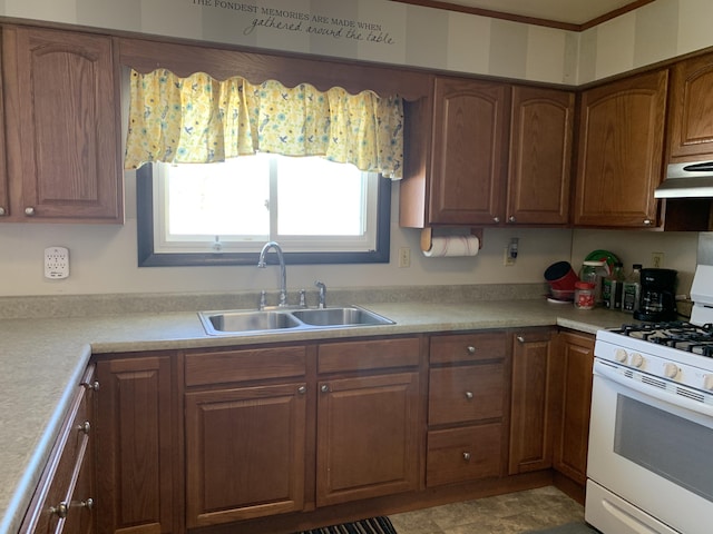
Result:
M521 534L584 522L584 507L548 486L390 515L399 534Z

